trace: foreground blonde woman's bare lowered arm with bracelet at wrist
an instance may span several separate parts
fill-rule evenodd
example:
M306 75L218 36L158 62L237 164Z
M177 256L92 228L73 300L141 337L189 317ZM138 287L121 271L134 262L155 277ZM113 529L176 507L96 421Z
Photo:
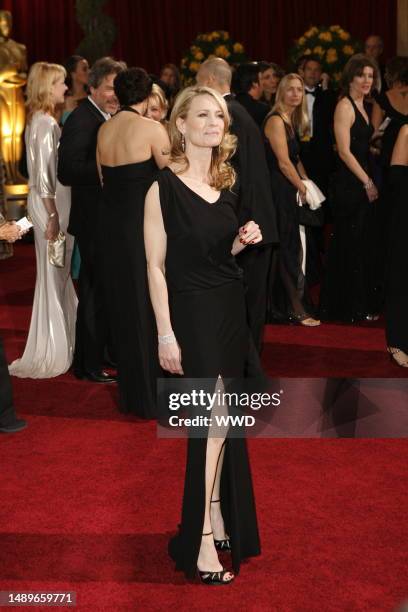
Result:
M169 297L165 277L167 235L160 207L158 183L150 187L145 200L144 240L150 300L159 336L159 361L163 370L183 374L181 351L171 326ZM166 343L160 339L166 339Z

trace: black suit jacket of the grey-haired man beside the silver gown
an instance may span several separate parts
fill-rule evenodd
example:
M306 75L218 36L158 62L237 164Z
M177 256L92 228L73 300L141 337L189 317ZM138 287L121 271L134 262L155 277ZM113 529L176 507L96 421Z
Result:
M68 232L95 233L102 188L96 166L96 141L104 116L88 99L68 117L58 149L58 180L71 186Z

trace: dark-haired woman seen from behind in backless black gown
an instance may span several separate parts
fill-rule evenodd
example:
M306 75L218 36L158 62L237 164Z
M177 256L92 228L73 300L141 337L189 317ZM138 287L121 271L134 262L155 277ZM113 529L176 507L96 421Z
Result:
M120 410L153 418L160 366L147 287L143 215L146 192L157 167L168 163L170 143L162 125L143 117L152 88L146 72L125 70L114 87L121 111L98 134L101 268L117 355Z

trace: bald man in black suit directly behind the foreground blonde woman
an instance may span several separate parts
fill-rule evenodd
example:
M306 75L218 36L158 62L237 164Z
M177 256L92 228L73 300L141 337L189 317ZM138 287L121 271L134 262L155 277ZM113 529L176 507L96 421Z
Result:
M232 119L231 132L238 139L237 151L231 161L238 177L233 191L239 195L239 224L244 225L253 219L262 231L261 245L247 247L237 257L247 286L248 323L255 346L260 351L271 249L278 242L276 213L262 136L252 117L231 94L231 76L231 68L225 60L212 58L201 65L197 84L215 89L227 102Z

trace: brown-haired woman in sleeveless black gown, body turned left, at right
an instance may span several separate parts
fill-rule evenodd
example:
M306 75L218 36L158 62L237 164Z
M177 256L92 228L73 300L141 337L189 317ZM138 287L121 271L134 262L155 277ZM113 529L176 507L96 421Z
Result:
M343 97L336 106L334 132L338 163L333 176L333 235L322 287L322 319L373 320L375 294L375 204L378 192L369 169L373 126L364 98L376 82L367 57L352 57L343 73Z

